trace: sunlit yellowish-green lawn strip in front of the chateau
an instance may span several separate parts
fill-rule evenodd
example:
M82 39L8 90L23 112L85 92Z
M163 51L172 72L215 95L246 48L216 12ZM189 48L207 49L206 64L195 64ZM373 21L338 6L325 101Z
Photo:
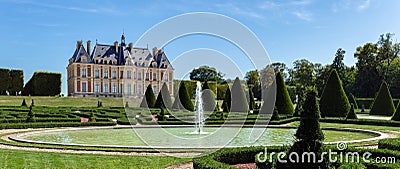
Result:
M25 99L28 105L34 100L36 106L50 107L96 107L97 101L101 101L104 107L123 107L122 98L112 97L48 97L48 96L0 96L0 106L20 106ZM139 105L139 103L137 103ZM132 105L129 106L137 106Z

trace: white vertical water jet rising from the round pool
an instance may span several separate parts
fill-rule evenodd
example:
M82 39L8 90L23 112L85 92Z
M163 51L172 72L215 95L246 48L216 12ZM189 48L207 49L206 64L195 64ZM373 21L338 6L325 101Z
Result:
M196 98L195 98L195 131L189 134L208 134L207 132L203 131L204 126L204 111L203 111L203 99L201 97L201 83L198 81L196 83Z

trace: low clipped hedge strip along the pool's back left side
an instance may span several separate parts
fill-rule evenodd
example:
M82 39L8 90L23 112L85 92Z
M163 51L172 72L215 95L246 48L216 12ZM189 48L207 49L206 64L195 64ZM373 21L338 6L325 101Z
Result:
M26 128L54 128L54 127L82 127L82 126L113 126L115 122L40 122L40 123L3 123L0 129L26 129Z

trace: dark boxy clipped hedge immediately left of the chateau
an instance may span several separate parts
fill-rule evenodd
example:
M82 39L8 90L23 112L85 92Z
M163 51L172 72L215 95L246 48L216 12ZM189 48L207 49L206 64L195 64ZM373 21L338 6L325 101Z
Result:
M61 93L61 73L35 72L25 84L23 95L56 96Z

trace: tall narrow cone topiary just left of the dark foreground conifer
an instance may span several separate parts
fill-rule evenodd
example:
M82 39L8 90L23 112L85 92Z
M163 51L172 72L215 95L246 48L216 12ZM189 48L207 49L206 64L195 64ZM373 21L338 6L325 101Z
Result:
M283 81L283 77L280 72L276 74L275 106L280 114L292 115L294 113L292 100L290 99L289 92L286 88L285 82Z

